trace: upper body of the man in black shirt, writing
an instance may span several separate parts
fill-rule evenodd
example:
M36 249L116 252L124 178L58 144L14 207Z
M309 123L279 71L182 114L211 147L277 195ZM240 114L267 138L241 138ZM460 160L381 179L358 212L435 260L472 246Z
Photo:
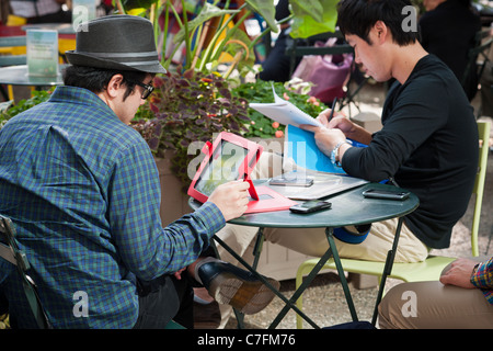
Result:
M341 31L377 81L394 78L383 105L382 129L370 134L343 116L314 132L319 148L334 152L354 177L393 178L420 197L405 226L428 248L447 248L454 225L466 212L478 167L478 126L472 107L451 70L403 31L409 1L343 0ZM346 137L367 144L352 147ZM341 252L341 256L343 253Z

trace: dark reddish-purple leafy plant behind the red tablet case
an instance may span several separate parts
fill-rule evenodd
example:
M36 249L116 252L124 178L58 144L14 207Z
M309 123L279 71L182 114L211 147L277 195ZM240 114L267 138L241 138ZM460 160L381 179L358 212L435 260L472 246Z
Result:
M210 141L220 132L238 135L248 129L248 102L232 97L226 80L215 73L168 73L156 77L157 88L148 104L140 107L133 121L157 157L174 150L171 171L182 181L184 189L191 182L188 163L199 151L192 143Z

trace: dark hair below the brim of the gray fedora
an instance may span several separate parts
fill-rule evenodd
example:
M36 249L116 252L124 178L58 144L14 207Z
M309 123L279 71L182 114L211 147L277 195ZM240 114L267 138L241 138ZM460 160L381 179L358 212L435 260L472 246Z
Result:
M85 66L69 66L64 72L64 84L69 87L85 88L94 93L103 91L110 80L115 75L124 77L123 83L126 86L124 100L130 95L136 86L146 78L146 72L135 70L113 70Z

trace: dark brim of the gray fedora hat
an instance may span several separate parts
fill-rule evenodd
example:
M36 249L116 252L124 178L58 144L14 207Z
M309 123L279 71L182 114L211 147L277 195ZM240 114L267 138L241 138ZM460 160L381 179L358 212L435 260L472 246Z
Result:
M150 61L146 65L130 66L123 63L102 59L91 55L76 53L74 50L68 50L65 53L67 60L74 66L88 66L103 69L122 69L122 70L135 70L147 73L165 73L167 70L159 61Z

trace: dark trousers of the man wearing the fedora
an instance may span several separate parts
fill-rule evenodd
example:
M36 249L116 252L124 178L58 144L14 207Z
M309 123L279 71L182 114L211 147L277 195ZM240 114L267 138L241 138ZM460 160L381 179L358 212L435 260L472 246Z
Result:
M194 292L191 281L162 275L152 282L139 282L139 316L134 329L164 329L173 319L187 329L194 327Z

